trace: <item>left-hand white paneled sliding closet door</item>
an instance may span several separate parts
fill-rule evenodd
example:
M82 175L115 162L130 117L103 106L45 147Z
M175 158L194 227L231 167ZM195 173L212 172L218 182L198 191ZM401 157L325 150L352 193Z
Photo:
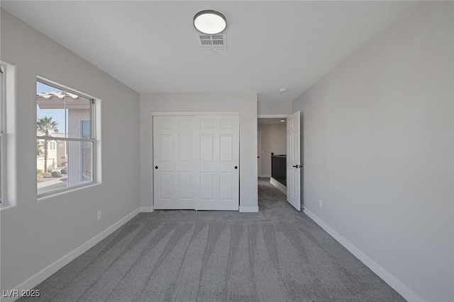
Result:
M194 116L153 117L155 209L194 209Z

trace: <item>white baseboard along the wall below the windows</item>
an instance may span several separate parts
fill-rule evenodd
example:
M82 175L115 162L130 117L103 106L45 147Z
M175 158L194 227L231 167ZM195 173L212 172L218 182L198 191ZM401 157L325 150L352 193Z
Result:
M14 289L17 289L19 293L21 290L28 290L28 289L33 289L33 287L37 286L41 282L43 282L45 279L48 279L52 274L55 274L59 269L70 263L72 260L76 259L80 255L82 255L84 252L87 252L90 248L93 248L94 245L99 243L101 240L109 236L111 233L114 233L118 228L123 226L126 222L131 220L135 215L139 214L139 209L135 209L132 211L130 214L124 216L122 219L114 223L113 225L109 226L109 228L106 228L104 231L99 233L98 235L94 236L92 239L88 240L86 243L82 244L79 246L79 248L76 248L75 250L72 250L72 252L67 253L67 255L61 257L59 260L55 261L52 263L52 265L49 265L45 269L41 270L37 274L35 274L33 277L27 279L23 283L19 284L16 286ZM15 301L18 299L18 297L1 297L1 302L10 302L10 301Z

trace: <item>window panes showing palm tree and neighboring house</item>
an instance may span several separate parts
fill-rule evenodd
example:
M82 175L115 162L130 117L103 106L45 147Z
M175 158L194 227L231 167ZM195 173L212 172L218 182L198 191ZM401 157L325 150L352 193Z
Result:
M38 78L36 168L38 197L96 182L94 99Z

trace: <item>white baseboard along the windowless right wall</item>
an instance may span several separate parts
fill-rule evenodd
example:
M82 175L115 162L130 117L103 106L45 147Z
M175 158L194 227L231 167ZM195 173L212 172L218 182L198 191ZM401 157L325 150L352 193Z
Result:
M304 209L304 213L309 216L313 221L315 221L326 233L330 234L334 239L341 243L348 251L350 251L355 257L357 257L362 263L367 267L372 269L372 272L382 278L389 286L391 286L395 291L401 294L406 301L409 302L423 302L424 300L418 296L414 291L406 287L399 279L390 274L386 269L381 267L377 262L372 260L369 256L365 255L364 252L355 247L350 241L345 239L341 234L336 232L331 226L328 226L323 220L321 220L314 213L309 211L309 209Z

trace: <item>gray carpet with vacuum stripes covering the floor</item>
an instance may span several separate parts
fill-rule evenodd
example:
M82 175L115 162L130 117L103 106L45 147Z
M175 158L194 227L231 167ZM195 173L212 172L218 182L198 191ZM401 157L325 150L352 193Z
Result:
M259 198L259 213L138 214L31 300L404 301L268 180Z

